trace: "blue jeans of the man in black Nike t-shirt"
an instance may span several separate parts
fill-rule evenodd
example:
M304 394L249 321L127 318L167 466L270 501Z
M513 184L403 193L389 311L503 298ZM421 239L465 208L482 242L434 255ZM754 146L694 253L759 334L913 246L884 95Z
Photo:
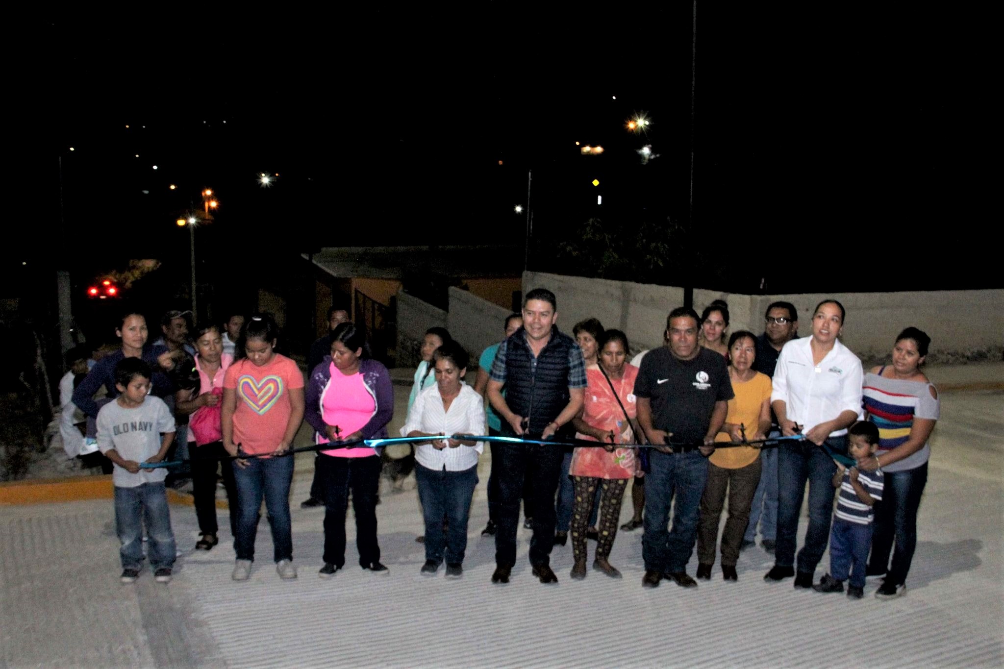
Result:
M708 458L698 450L673 454L650 450L649 472L645 474L642 558L647 571L683 572L697 541ZM674 490L677 501L673 509L673 530L669 531Z

